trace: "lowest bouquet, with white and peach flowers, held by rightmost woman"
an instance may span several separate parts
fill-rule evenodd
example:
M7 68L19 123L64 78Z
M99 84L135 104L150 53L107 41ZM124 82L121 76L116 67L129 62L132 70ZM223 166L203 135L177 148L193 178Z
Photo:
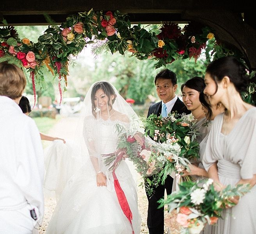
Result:
M228 185L222 191L216 191L213 180L185 181L179 191L168 195L167 200L161 199L160 206L168 204L169 212L165 218L172 234L199 234L208 223L213 225L221 218L221 212L235 204L231 197L241 197L249 191L249 184Z

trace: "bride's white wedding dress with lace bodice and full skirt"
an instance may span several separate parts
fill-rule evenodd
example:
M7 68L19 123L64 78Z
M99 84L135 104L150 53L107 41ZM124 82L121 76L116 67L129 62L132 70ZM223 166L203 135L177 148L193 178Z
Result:
M128 126L110 119L91 118L84 122L85 141L94 144L99 164L102 164L101 171L107 176L107 186L97 186L96 172L91 160L88 160L64 187L46 234L132 234L132 227L135 234L140 233L137 186L128 165L122 160L116 169L116 176L132 211L132 226L121 209L113 176L104 166L101 156L116 149L114 126L117 122Z

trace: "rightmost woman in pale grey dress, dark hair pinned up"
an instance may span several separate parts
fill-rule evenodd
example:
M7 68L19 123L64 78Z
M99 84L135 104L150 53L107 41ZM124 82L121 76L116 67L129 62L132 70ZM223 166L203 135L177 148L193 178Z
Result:
M245 103L240 93L247 88L245 67L234 57L222 57L206 69L204 94L212 106L221 102L226 111L215 117L203 157L203 165L222 190L228 184L251 185L251 191L230 199L236 206L226 209L214 234L256 233L256 108Z

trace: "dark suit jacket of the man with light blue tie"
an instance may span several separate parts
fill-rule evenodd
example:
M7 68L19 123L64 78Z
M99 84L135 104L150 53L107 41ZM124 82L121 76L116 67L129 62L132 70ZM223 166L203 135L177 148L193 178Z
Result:
M187 109L185 104L178 98L172 107L171 112L177 111L178 114L186 113L190 114L191 111ZM161 115L162 112L162 101L155 103L149 107L148 117L151 114L156 114L157 116Z

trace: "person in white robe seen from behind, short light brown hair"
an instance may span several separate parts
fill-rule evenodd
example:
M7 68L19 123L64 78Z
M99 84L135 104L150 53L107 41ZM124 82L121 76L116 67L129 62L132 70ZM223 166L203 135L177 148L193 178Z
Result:
M18 106L23 71L0 63L0 234L31 234L44 213L44 158L35 122Z

